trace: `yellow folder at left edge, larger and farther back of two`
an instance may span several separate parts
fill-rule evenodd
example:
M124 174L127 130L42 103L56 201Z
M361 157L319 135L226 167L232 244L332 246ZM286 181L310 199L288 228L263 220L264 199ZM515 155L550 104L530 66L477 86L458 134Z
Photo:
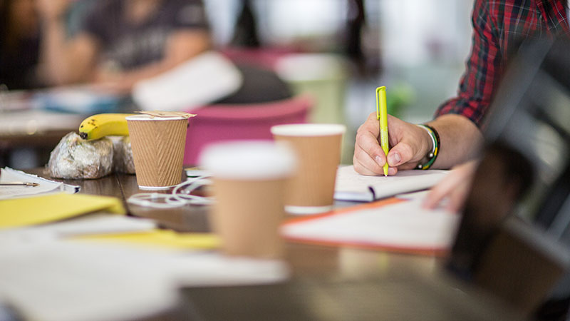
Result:
M102 211L125 214L123 203L108 196L56 193L0 200L0 228L51 223Z

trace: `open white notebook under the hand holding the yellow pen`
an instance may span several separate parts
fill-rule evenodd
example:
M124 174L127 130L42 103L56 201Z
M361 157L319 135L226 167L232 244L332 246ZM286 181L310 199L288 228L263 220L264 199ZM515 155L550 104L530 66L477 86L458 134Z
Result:
M334 198L336 200L371 201L400 193L424 190L437 184L449 170L400 170L395 176L367 176L356 173L353 166L338 168Z

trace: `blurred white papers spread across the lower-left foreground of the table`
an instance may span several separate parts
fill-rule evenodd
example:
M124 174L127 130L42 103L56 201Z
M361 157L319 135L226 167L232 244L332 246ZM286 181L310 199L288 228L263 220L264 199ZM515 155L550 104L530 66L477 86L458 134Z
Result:
M289 270L218 253L55 241L0 247L0 275L0 297L26 320L113 321L173 307L182 286L278 282Z

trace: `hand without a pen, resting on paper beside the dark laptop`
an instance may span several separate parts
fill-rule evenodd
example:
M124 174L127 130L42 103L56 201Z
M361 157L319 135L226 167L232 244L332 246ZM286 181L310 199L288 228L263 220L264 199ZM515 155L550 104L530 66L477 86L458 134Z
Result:
M452 168L452 172L427 194L423 207L436 208L444 198L448 198L449 202L445 205L445 209L450 212L459 211L470 191L476 169L476 161L463 163Z

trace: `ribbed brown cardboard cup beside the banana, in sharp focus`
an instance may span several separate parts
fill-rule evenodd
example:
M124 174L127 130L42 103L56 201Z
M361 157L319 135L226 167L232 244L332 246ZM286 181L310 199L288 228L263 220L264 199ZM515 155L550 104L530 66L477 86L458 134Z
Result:
M137 115L128 116L127 123L139 188L180 184L188 119Z

